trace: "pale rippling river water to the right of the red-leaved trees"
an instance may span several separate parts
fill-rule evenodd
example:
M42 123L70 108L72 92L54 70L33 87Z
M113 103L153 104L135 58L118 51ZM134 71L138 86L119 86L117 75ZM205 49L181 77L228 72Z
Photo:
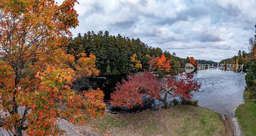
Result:
M245 73L218 71L217 68L200 70L194 77L202 83L194 93L200 107L211 109L221 115L235 117L236 108L244 103Z

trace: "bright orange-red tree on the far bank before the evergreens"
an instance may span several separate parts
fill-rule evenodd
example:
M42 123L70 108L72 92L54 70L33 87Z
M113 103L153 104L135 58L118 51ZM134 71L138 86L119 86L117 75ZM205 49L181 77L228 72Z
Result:
M163 72L169 72L169 70L171 69L170 63L171 61L166 59L163 53L161 57L155 57L148 61L148 64L150 64L150 66L152 65L153 68L161 69L163 70Z

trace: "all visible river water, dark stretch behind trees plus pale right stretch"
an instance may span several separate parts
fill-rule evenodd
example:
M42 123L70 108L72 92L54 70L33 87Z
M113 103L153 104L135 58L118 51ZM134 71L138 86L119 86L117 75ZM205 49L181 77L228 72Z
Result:
M193 99L198 100L199 106L211 109L221 115L227 114L230 117L235 117L236 108L244 103L245 73L218 71L217 68L213 68L197 71L194 75L194 78L202 83L199 92L193 93ZM105 94L104 100L109 100L117 81L120 82L123 77L125 76L93 77L91 81L96 85L91 87L99 87ZM170 100L172 99L168 99L168 101ZM163 105L161 101L155 99L147 107L154 108Z

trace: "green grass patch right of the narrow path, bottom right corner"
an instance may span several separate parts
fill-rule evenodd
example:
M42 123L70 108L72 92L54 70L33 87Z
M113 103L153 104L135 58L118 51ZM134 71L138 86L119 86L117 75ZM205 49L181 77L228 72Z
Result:
M256 103L245 102L236 109L244 136L256 135Z

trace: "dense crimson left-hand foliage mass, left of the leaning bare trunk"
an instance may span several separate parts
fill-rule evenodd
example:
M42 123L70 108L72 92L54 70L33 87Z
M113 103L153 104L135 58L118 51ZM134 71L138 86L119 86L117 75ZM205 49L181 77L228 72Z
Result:
M132 108L134 104L142 104L141 98L148 95L150 98L160 97L158 91L160 82L156 80L153 74L144 72L142 75L129 75L128 80L122 80L122 83L116 84L116 91L111 94L112 105L127 106Z

